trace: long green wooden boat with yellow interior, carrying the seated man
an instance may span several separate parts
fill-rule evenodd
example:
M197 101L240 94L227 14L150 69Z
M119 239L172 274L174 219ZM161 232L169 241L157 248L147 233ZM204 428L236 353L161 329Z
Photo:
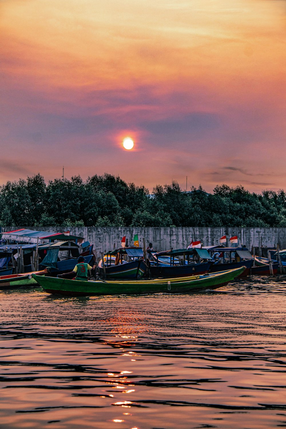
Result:
M246 267L191 277L154 280L80 281L64 278L41 277L32 274L47 293L68 296L142 295L147 293L184 293L217 289L238 277Z

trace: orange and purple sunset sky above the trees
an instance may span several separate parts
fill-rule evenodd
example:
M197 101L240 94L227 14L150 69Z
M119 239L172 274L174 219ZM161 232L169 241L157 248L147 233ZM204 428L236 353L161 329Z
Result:
M0 184L286 189L285 30L285 0L0 0Z

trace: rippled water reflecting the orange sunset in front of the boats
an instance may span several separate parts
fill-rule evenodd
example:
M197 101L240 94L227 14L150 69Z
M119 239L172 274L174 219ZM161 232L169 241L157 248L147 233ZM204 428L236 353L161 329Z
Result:
M0 293L0 427L286 426L286 276L219 290Z

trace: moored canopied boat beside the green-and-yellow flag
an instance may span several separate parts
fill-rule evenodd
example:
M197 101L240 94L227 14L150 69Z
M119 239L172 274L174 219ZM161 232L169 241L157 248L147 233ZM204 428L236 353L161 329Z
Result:
M136 247L107 252L103 257L106 278L141 278L148 268L143 258L143 250ZM102 259L98 263L98 269L100 275L104 276Z

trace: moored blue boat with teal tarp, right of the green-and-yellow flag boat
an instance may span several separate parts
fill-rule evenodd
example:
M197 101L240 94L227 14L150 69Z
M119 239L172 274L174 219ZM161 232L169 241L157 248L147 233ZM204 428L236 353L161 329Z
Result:
M162 262L163 257L164 262ZM169 257L169 264L166 263L166 257ZM151 276L156 278L205 274L210 271L211 265L214 263L208 251L199 248L172 249L152 254L152 258L154 262L151 262L150 272Z

